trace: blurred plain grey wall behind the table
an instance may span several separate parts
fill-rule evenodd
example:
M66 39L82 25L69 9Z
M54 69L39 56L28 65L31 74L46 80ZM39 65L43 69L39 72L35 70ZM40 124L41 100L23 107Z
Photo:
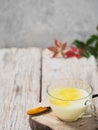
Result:
M0 48L70 45L97 25L98 0L0 0Z

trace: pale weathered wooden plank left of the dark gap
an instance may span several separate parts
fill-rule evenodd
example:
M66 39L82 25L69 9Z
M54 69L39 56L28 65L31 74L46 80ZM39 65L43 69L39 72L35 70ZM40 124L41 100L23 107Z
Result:
M0 130L29 130L40 100L41 49L0 49Z

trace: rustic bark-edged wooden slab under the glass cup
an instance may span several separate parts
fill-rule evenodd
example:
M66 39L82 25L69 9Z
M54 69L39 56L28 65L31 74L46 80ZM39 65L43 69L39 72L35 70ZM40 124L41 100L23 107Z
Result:
M94 117L64 122L52 112L30 116L29 122L32 130L98 130L98 120Z

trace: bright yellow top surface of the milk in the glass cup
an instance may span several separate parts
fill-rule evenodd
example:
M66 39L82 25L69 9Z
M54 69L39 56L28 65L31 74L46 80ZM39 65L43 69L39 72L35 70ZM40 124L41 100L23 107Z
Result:
M53 90L51 95L54 97L50 100L52 104L69 106L73 100L84 98L88 93L83 89L64 87Z

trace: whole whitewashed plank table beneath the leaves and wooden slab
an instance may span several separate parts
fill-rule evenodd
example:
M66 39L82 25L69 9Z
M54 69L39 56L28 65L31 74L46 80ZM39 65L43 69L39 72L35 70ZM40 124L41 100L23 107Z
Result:
M0 49L0 130L30 130L26 111L47 101L50 82L69 77L93 81L98 90L93 57L53 59L47 49Z

